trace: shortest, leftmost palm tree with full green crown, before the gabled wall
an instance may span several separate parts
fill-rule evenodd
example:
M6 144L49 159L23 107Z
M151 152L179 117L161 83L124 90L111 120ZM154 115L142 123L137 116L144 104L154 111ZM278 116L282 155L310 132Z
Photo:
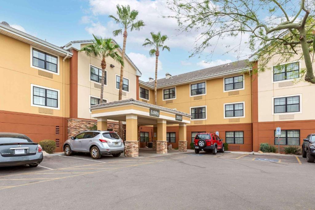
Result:
M100 89L100 103L103 102L103 91L104 91L104 83L105 83L105 68L106 68L106 58L111 57L117 63L120 63L122 66L124 65L122 57L118 54L117 48L119 48L118 44L115 44L111 38L103 39L100 36L95 36L93 34L95 41L92 44L88 44L81 48L79 52L85 52L86 55L101 58L101 67L102 67L102 80L101 80L101 89Z

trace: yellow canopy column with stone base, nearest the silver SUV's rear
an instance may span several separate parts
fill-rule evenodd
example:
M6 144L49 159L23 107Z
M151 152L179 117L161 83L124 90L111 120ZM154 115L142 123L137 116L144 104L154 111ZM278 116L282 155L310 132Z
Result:
M126 115L126 141L125 156L138 157L138 116L134 114Z

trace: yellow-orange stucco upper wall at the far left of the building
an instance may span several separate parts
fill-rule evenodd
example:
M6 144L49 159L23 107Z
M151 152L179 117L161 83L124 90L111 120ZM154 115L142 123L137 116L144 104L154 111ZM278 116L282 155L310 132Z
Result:
M65 117L69 117L69 59L65 61L65 91L63 91L63 57L59 56L59 75L53 78L38 75L31 67L31 46L0 34L0 110L47 115L31 106L31 84L54 88L60 91L60 109L51 116L63 116L63 92L65 92ZM41 48L39 50L44 51ZM51 53L50 53L51 54ZM47 107L49 108L49 107Z

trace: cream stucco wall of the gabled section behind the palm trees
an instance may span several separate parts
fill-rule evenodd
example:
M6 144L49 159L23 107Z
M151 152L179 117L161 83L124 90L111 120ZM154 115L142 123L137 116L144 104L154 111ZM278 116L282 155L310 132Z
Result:
M120 54L120 53L119 53ZM121 55L121 54L120 54ZM100 58L94 56L87 56L83 52L78 53L78 117L85 119L95 119L91 117L89 111L90 95L100 97L100 88L95 88L95 84L100 87L100 83L90 81L90 64L98 68L100 66ZM129 63L127 59L124 60L123 77L129 79L129 93L125 92L123 99L136 99L136 69ZM118 92L116 89L116 74L120 75L121 65L112 58L106 59L107 70L107 85L104 86L104 99L107 102L118 100ZM115 67L110 67L113 64Z

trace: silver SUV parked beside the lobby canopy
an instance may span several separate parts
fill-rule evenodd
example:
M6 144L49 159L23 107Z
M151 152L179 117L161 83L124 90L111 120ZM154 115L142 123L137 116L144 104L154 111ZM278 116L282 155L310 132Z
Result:
M113 131L83 131L63 144L66 156L73 152L90 153L93 159L100 159L102 155L119 157L125 149L123 140Z

